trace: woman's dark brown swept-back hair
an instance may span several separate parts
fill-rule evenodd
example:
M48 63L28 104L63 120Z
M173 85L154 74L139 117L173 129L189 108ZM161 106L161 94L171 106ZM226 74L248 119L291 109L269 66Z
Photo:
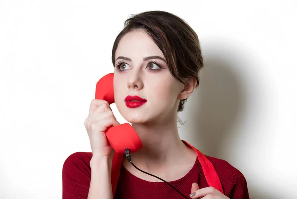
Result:
M193 78L199 85L199 70L203 67L200 42L195 31L178 16L165 11L147 11L132 15L124 23L112 48L112 63L115 66L115 51L121 38L133 30L143 30L158 45L166 59L172 76L183 83L182 78ZM184 109L187 99L181 100L178 112Z

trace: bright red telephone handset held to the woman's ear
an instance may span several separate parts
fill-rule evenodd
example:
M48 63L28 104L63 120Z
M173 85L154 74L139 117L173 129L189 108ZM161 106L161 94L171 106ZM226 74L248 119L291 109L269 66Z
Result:
M96 84L95 99L103 99L110 104L114 103L113 73L103 76ZM125 154L128 148L131 153L142 148L142 142L129 123L111 126L106 130L106 137L110 146L118 154Z

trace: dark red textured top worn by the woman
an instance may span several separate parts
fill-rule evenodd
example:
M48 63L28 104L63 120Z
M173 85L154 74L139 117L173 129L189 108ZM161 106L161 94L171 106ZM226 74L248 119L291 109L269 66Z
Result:
M249 199L247 182L243 174L228 162L206 156L213 164L223 186L224 194L230 199ZM87 199L92 153L77 152L70 155L63 165L63 199ZM200 188L208 187L198 159L191 171L183 178L170 182L186 196L191 184L197 182ZM121 168L115 199L183 199L164 182L148 182Z

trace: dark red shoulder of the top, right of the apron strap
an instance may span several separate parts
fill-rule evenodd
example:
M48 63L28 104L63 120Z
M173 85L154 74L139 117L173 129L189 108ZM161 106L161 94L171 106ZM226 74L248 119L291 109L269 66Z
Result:
M227 196L230 198L249 198L246 178L239 169L226 160L205 156L213 164Z

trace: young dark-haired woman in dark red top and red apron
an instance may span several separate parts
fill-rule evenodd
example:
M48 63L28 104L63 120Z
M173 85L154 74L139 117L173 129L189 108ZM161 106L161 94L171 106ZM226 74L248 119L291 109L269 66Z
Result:
M112 63L116 107L143 143L132 154L133 164L176 189L134 168L126 158L112 184L115 153L105 131L119 123L106 101L94 99L85 120L92 153L77 152L66 159L63 199L249 199L240 171L204 156L179 137L177 113L199 85L203 67L198 37L187 23L163 11L129 18L115 39ZM127 96L137 101L127 101Z

